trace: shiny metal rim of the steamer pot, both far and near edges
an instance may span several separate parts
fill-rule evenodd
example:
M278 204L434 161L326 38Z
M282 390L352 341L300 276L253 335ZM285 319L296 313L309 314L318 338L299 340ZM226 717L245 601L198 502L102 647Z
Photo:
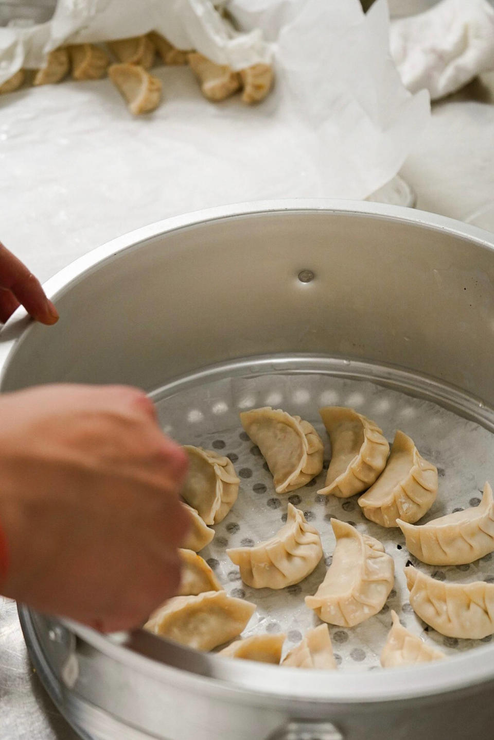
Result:
M412 210L404 206L327 198L254 201L217 206L143 226L98 246L87 255L78 258L78 260L51 277L50 280L47 280L44 288L47 295L56 300L57 297L61 297L64 292L67 292L71 286L83 277L87 277L92 271L98 269L101 264L109 263L126 250L136 249L144 241L158 238L160 235L170 234L189 227L203 226L223 219L263 216L283 212L297 212L307 215L327 212L335 215L368 216L384 221L415 224L424 229L446 232L468 240L473 245L483 249L494 251L494 235L490 232L452 218ZM10 357L16 351L17 343L26 340L32 328L33 325L30 323L24 309L18 309L1 329L0 391L4 371L10 362ZM214 693L223 693L228 689L243 695L254 694L259 701L272 701L277 697L285 702L329 701L331 704L393 702L402 699L432 698L433 696L494 680L494 647L477 648L469 653L450 658L444 663L437 662L392 671L368 673L325 672L325 680L322 682L319 671L315 675L311 671L289 668L280 670L276 666L259 665L248 661L243 661L242 667L237 668L237 662L235 661L229 662L217 656L203 656L194 650L172 645L156 636L149 635L149 638L155 641L155 645L161 643L168 648L171 647L172 652L180 660L180 666L184 664L194 665L197 656L200 656L201 662L206 662L207 671L205 676L194 672L190 668L184 670L183 667L163 665L155 659L132 652L128 647L116 644L112 642L112 639L82 625L76 625L73 622L65 622L65 624L84 642L95 647L96 650L120 663L126 664L128 667L134 667L135 670L141 673L152 673L155 676L162 676L163 679L168 673L170 679L175 683L183 684L185 687L191 687L192 682L194 682L197 684L198 690L201 691L208 690Z

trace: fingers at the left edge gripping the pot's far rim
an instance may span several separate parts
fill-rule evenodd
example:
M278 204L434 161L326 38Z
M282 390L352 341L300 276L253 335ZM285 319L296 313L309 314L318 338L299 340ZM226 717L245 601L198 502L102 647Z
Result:
M57 309L44 295L39 281L0 242L0 323L5 323L21 304L41 323L58 321Z

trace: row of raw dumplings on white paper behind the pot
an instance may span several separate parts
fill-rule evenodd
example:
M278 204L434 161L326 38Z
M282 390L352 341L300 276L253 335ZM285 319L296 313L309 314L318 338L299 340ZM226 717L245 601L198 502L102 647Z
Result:
M180 51L159 33L108 41L106 47L118 59L112 64L106 49L95 44L73 44L60 47L47 55L47 62L36 70L33 85L55 84L70 73L75 80L98 80L108 73L135 115L155 110L161 101L161 81L149 73L156 56L163 64L189 64L197 77L200 90L211 101L222 101L242 90L242 100L251 104L262 101L273 83L270 64L254 64L234 72L229 67L215 64L202 54ZM0 85L0 94L18 90L27 80L25 70Z

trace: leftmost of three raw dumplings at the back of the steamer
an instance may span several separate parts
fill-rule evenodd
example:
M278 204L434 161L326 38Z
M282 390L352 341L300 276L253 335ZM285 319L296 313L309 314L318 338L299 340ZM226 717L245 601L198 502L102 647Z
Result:
M271 406L243 411L240 421L265 457L277 494L301 488L322 471L324 445L308 421Z

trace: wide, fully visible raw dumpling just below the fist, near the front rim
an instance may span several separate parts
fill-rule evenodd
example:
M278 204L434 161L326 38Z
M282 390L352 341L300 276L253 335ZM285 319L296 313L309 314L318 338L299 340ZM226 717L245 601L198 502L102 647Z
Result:
M205 591L169 599L144 628L195 650L213 650L240 635L255 610L255 604L225 591Z

